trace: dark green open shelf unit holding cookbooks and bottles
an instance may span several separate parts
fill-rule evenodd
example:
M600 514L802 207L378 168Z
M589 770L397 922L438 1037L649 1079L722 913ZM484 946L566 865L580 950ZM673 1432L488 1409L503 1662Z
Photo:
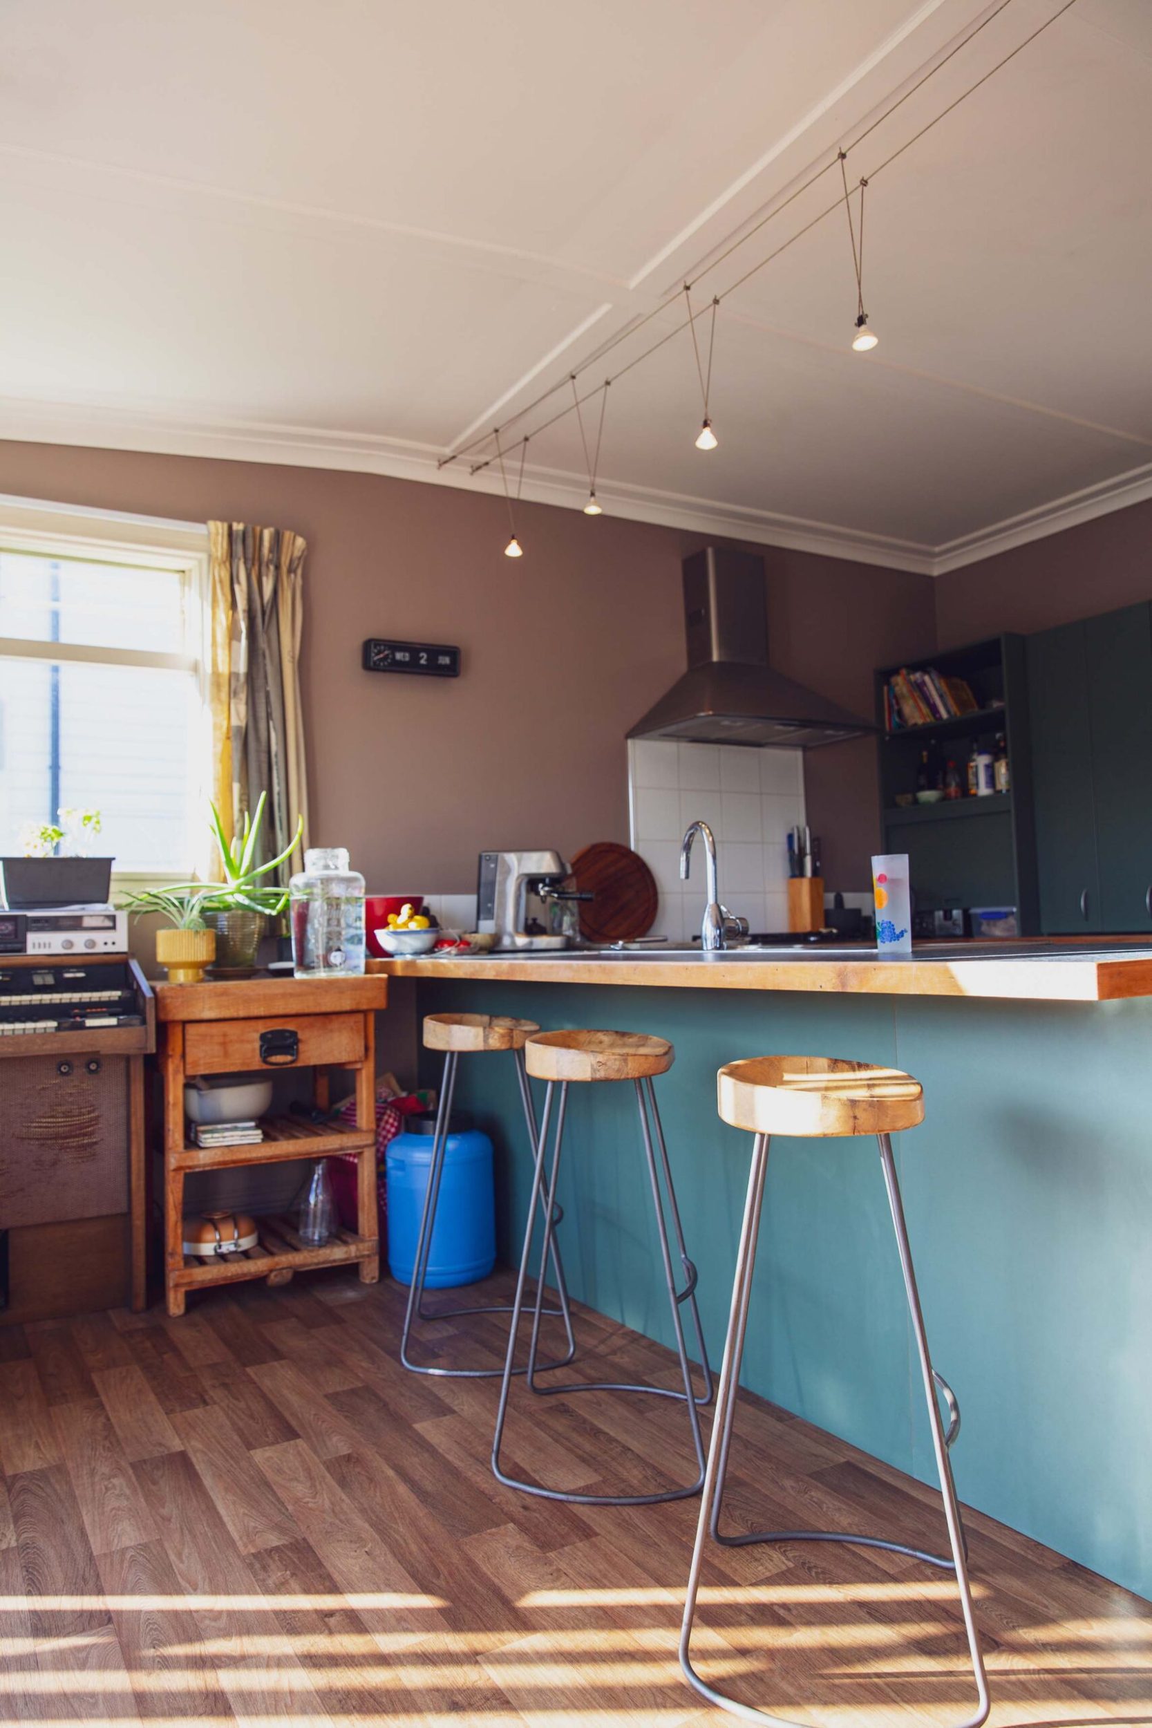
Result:
M883 850L908 854L915 911L1012 905L1019 933L1036 935L1024 638L881 667L876 717ZM1007 788L971 797L969 757L984 750L1002 759ZM959 798L946 795L950 779ZM922 791L941 797L919 800Z

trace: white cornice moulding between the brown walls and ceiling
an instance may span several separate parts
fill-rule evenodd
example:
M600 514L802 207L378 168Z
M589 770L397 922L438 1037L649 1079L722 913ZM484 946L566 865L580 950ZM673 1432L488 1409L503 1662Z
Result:
M211 422L159 416L130 410L104 410L66 403L0 399L0 439L29 444L76 444L88 449L124 449L162 456L207 456L216 461L263 461L294 468L332 468L349 473L378 473L387 479L451 486L454 491L503 492L499 475L461 475L439 468L442 451L432 444L387 439L361 432L326 432L313 427L266 425L261 422ZM851 563L883 565L917 575L945 575L981 558L1010 551L1029 541L1112 510L1152 498L1152 463L1128 470L1097 486L1069 492L1022 515L990 524L941 546L865 534L831 522L810 522L743 505L717 503L656 487L598 480L604 510L630 522L686 529L693 534L724 534L760 546L781 546ZM580 510L587 501L587 479L551 468L529 468L523 501Z

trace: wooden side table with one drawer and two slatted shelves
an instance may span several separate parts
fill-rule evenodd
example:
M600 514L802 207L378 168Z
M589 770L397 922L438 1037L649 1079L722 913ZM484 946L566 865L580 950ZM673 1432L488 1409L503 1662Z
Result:
M387 978L259 976L155 988L157 1056L164 1077L164 1293L181 1315L190 1289L266 1279L287 1284L311 1267L359 1263L363 1284L380 1277L377 1222L375 1021ZM185 1082L197 1075L311 1068L313 1096L328 1104L328 1071L356 1075L356 1127L295 1116L264 1120L259 1146L192 1146ZM323 1248L302 1242L288 1218L259 1218L259 1242L242 1255L202 1261L183 1253L185 1177L190 1170L358 1154L356 1230L339 1229Z

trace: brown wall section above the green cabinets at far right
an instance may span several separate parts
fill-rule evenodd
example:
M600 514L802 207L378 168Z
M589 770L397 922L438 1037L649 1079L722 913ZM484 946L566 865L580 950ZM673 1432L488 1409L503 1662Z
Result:
M1152 503L1143 503L938 577L938 646L1043 631L1149 598Z

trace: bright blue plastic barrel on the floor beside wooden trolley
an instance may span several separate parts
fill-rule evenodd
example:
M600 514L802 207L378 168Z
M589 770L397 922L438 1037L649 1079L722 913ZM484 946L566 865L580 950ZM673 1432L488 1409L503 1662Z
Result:
M389 1270L411 1284L420 1217L428 1191L434 1123L397 1134L387 1151ZM477 1128L449 1123L444 1175L428 1253L428 1289L454 1289L485 1279L496 1265L492 1142Z

